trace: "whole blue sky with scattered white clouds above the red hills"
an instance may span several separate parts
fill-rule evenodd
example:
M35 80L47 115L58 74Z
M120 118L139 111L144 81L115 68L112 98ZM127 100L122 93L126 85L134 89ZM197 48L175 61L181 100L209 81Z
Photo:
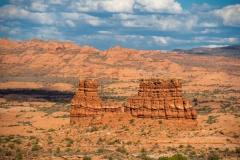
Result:
M240 44L237 0L0 0L0 37L104 50Z

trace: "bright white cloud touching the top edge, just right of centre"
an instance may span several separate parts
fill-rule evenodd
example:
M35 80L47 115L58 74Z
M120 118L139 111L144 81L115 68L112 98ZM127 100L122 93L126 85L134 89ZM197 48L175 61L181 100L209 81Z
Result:
M175 0L135 0L134 9L147 12L182 13L180 3Z

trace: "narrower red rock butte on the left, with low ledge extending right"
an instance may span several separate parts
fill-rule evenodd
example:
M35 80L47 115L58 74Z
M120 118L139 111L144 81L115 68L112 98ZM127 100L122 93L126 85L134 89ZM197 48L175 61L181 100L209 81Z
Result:
M121 104L104 102L97 93L97 79L79 79L79 87L71 104L71 121L79 117L121 112Z

